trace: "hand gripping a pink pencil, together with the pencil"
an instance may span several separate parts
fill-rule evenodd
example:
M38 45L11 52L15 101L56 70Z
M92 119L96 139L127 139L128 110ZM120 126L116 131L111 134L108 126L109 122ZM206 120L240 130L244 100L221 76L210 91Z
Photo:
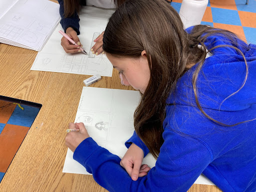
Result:
M86 51L82 49L82 44L80 43L76 31L73 28L68 27L66 29L66 33L64 33L62 30L59 30L58 32L63 36L61 38L61 46L63 47L66 53L86 53Z

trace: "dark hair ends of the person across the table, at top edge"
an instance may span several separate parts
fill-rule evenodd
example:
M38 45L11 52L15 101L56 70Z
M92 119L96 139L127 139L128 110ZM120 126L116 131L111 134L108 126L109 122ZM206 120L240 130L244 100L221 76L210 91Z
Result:
M85 5L85 0L63 0L64 2L64 16L69 17L76 12L79 14L81 5ZM120 6L124 0L113 0L115 7Z

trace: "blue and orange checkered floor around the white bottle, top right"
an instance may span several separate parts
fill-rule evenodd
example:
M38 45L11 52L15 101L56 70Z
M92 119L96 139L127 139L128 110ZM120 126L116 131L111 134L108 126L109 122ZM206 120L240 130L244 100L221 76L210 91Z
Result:
M177 12L182 0L170 3ZM256 0L209 0L201 24L230 30L247 43L256 44Z

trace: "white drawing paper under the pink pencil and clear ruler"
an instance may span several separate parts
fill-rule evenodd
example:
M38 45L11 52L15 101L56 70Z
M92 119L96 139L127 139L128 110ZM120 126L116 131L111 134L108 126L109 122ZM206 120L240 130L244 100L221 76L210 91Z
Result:
M80 35L78 35L83 49L89 53L94 32L102 32L105 29L107 20L113 13L113 9L84 6L79 14ZM75 74L99 74L101 76L112 76L112 64L103 54L88 57L83 52L66 53L60 45L62 30L59 24L53 31L47 43L37 56L31 66L31 70L65 72Z

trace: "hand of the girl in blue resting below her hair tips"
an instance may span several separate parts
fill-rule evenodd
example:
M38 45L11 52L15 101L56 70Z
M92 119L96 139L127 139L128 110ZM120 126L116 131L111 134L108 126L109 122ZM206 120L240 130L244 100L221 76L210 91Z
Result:
M138 176L145 176L150 170L147 164L141 165L143 157L143 150L132 143L120 161L120 165L125 168L132 180L137 180Z

